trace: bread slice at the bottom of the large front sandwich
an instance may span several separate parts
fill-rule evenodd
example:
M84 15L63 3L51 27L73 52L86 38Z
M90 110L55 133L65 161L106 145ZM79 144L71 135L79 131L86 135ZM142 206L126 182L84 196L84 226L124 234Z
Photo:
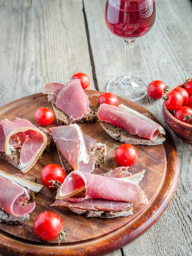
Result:
M117 218L117 217L126 217L129 215L132 215L133 211L133 205L128 207L127 209L123 211L90 211L90 210L84 210L76 207L69 207L72 212L75 212L77 214L85 214L86 217L100 217L100 218Z

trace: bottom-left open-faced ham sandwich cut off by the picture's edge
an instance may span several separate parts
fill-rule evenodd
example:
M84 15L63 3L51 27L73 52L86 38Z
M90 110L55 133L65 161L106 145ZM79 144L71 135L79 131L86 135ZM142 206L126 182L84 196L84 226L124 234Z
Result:
M29 221L29 213L35 207L35 195L43 186L35 177L10 175L0 170L0 222L20 225ZM28 201L32 202L28 204Z

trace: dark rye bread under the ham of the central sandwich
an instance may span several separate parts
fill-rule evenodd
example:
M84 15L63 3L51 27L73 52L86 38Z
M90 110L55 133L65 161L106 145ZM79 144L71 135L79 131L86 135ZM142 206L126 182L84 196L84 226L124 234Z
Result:
M65 170L66 175L69 175L70 172L74 171L73 167L70 165L70 163L66 160L66 158L63 156L59 148L57 147L58 153L59 153L59 158L61 165L63 167L63 170ZM97 148L94 152L93 155L96 158L95 162L95 167L101 168L103 164L105 163L105 154L104 152L100 149Z

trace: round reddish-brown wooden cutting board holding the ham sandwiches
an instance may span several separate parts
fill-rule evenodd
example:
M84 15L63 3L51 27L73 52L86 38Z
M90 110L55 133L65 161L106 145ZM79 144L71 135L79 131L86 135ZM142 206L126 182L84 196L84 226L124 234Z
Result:
M99 96L101 92L87 90L86 94L92 105L95 105L95 96ZM129 100L119 98L119 102L140 113L148 112ZM40 107L50 105L46 95L37 93L0 108L0 120L5 118L14 120L15 117L20 117L29 119L37 125L34 120L35 111ZM153 115L152 118L157 121ZM47 128L56 125L57 122L54 120L54 123ZM97 142L106 143L107 146L105 165L102 169L96 168L94 173L100 174L115 169L118 165L114 160L114 145L122 143L106 134L100 122L84 123L80 126L83 133L95 138ZM86 218L66 207L50 207L54 202L56 191L43 187L36 196L36 207L30 214L29 222L20 226L0 223L0 251L27 256L106 255L142 235L160 218L169 205L178 183L180 167L177 150L168 131L166 131L166 141L163 145L137 145L136 148L138 149L138 161L129 168L129 172L135 174L143 169L146 170L140 186L148 195L148 205L134 205L133 214L128 217ZM60 164L56 149L51 153L45 153L24 176L37 177L38 183L41 183L40 172L49 163ZM0 169L11 174L20 173L20 170L3 159L0 159ZM59 246L57 239L46 242L35 235L34 219L44 211L55 212L63 219L64 230L69 232L66 243L63 242Z

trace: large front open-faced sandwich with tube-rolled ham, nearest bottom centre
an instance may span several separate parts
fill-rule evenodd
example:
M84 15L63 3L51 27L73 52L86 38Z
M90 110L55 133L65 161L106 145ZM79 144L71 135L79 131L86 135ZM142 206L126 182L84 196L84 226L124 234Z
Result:
M87 217L115 218L132 214L133 204L147 204L138 183L143 172L132 175L118 167L105 175L71 172L61 185L51 206L68 207Z

